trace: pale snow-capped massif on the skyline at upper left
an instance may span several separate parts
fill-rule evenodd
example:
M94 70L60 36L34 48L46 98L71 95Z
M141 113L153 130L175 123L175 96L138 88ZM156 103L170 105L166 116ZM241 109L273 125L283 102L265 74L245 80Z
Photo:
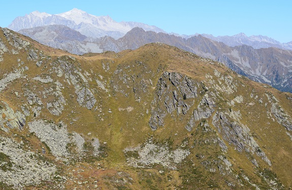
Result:
M111 36L118 39L137 26L145 31L164 32L156 26L140 22L116 22L109 16L94 16L79 9L56 15L35 11L15 18L8 28L17 32L22 29L53 24L68 26L87 37L93 38Z

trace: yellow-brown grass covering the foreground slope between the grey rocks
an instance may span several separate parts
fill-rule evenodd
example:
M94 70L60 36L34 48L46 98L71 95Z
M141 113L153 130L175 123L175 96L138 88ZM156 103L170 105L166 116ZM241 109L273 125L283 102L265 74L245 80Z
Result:
M4 37L1 35L2 40ZM50 69L49 64L53 62L57 57L63 55L70 55L67 52L61 50L56 50L47 46L38 44L35 41L31 41L26 37L22 37L30 41L31 46L34 46L42 50L45 55L51 56L52 60L48 61L46 64L43 64L41 67L37 67L33 62L26 61L26 64L29 65L29 70L25 71L27 78L33 78L37 75L42 75ZM26 60L26 53L23 51L19 55L7 55L4 57L5 62L1 63L1 73L12 71L13 67L17 67L17 59ZM61 116L52 116L48 111L45 111L41 114L41 118L46 118L48 120L54 120L58 122L63 120L67 123L69 131L76 131L87 135L88 132L91 134L88 135L88 138L97 137L100 139L100 142L107 142L105 145L107 147L107 157L102 159L102 161L95 161L91 165L84 163L85 172L83 173L84 177L92 176L100 180L99 185L106 188L109 187L109 184L112 182L107 182L105 176L114 176L116 171L125 171L129 173L134 182L128 187L134 189L138 188L175 188L176 186L183 188L196 186L197 188L229 188L224 182L228 177L224 177L218 172L210 173L205 170L201 165L201 160L197 158L197 154L205 154L209 156L214 156L220 149L212 145L197 146L191 149L191 154L187 157L187 161L184 162L178 171L170 171L159 165L155 166L152 169L141 169L137 170L132 167L128 167L125 164L125 157L122 150L129 146L137 146L144 143L148 138L153 137L158 142L171 142L173 147L179 146L183 141L188 141L189 146L194 144L194 142L207 139L208 135L213 135L214 137L220 133L212 125L212 116L206 122L209 123L211 128L214 130L213 133L205 134L200 132L202 129L200 126L198 128L193 128L192 131L188 132L184 126L187 123L187 119L182 121L179 118L168 118L165 120L165 128L158 128L156 131L152 131L148 125L150 114L146 114L146 110L150 110L151 101L155 93L156 83L158 78L164 71L176 71L188 75L190 78L198 82L199 84L204 81L204 84L209 87L210 91L212 85L208 82L206 74L213 76L213 79L217 83L218 78L214 75L214 69L218 70L224 76L232 76L236 83L238 84L238 91L234 94L225 94L221 93L221 97L224 97L224 101L218 99L218 107L221 110L229 110L230 106L226 104L227 101L235 98L235 96L242 95L244 102L241 104L235 104L232 107L233 110L238 111L242 115L241 122L250 129L250 133L254 136L254 139L260 147L263 147L263 150L269 157L272 162L272 167L269 167L263 160L260 158L257 159L261 168L270 169L273 173L277 175L277 178L286 186L291 186L291 168L292 168L292 143L289 137L286 135L286 129L283 126L280 126L277 122L273 122L271 118L267 118L267 109L265 108L264 103L258 103L257 100L250 97L250 94L253 93L253 96L258 96L262 98L264 102L267 102L267 96L265 93L272 93L279 100L279 104L286 111L288 115L292 115L291 111L291 101L287 100L286 96L291 97L289 93L282 93L270 87L264 87L262 84L252 82L251 80L245 77L238 77L238 75L222 64L218 64L212 61L204 61L203 59L192 55L188 52L181 51L178 48L163 45L163 44L148 44L134 51L122 51L120 53L114 52L105 52L98 53L94 55L84 55L84 56L75 56L77 58L76 62L73 64L76 68L80 68L82 72L87 71L91 75L92 82L89 82L89 85L92 89L95 89L94 96L97 100L96 104L98 108L102 108L102 118L104 121L101 121L99 110L87 110L85 107L79 106L76 101L76 95L74 93L74 88L64 83L65 89L62 91L65 99L67 99L67 105ZM137 64L136 61L142 62L142 64ZM8 63L8 64L6 64ZM110 69L105 71L103 69L103 64L110 63ZM214 63L214 64L210 64ZM47 68L45 68L45 65ZM130 66L129 69L126 69L127 66ZM117 75L114 75L113 72L117 68L122 68L123 71L127 72L127 75L138 75L141 81L142 78L151 79L153 84L149 85L147 88L147 93L140 92L139 96L141 97L141 102L136 101L135 94L133 93L133 87L126 87L122 83L120 78ZM146 72L152 71L151 74L146 74ZM96 87L94 82L94 77L100 79L98 74L104 77L103 82L109 87L109 92L102 91L99 87ZM139 78L137 76L137 78ZM56 77L56 76L53 76ZM53 78L52 77L52 78ZM58 78L60 82L64 80L63 76ZM101 79L100 79L101 80ZM111 86L111 80L115 84L119 84L121 88L128 93L128 96L125 97L122 93L115 92ZM20 83L19 83L20 81ZM5 91L0 94L0 98L9 104L15 109L19 110L19 106L22 105L22 100L25 98L17 98L14 95L14 92L17 91L20 94L23 94L23 85L26 83L25 78L21 78L17 81L12 82ZM135 85L135 83L130 83ZM34 87L35 86L35 87ZM67 88L68 86L69 88ZM39 82L30 81L29 87L31 89L36 89L42 91L42 84ZM200 91L202 89L198 89ZM109 96L109 94L111 96ZM10 97L10 98L8 98ZM199 101L203 95L199 95L198 101L194 102L191 109L196 108L199 104ZM254 105L249 105L248 103L254 102ZM119 111L118 108L126 108L128 106L133 107L133 111ZM268 105L268 110L269 110ZM191 110L190 109L190 110ZM74 113L72 113L74 111ZM109 113L108 111L112 111ZM215 114L215 112L213 113ZM191 113L189 112L185 117L190 118ZM78 118L74 124L70 124L71 118ZM34 119L33 117L28 117L27 121ZM196 123L199 125L199 122ZM16 133L20 133L15 131ZM25 129L23 132L27 132ZM177 133L177 135L175 135ZM1 132L3 134L3 132ZM3 134L4 135L4 134ZM207 136L206 136L207 135ZM212 136L212 137L213 137ZM34 137L27 138L30 141L31 146L36 149L40 149L40 143ZM244 155L245 153L239 153L238 151L233 150L231 145L228 145L229 151L226 155L229 160L232 161L233 170L235 173L244 172L253 182L261 184L261 177L257 176L254 171L255 167L250 163L250 161ZM94 161L94 160L93 160ZM99 173L96 171L96 163L101 162L104 168L108 168L107 172ZM82 165L82 163L80 164ZM61 167L65 167L60 165ZM83 165L82 165L83 166ZM68 167L68 172L69 172ZM70 168L72 169L72 168ZM158 173L159 170L165 170L165 173ZM94 173L95 172L95 173ZM103 176L103 177L102 177ZM68 184L74 185L74 184ZM125 185L125 186L127 186ZM117 187L117 185L115 185ZM251 188L248 183L246 183L246 188Z

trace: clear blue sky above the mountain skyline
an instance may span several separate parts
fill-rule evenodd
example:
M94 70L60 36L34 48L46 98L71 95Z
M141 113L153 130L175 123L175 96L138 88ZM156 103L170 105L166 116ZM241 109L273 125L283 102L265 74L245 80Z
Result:
M143 22L178 34L232 36L243 32L247 36L292 41L290 0L8 0L1 3L0 26L7 27L17 16L36 10L58 14L73 8L96 16L109 15L116 21Z

